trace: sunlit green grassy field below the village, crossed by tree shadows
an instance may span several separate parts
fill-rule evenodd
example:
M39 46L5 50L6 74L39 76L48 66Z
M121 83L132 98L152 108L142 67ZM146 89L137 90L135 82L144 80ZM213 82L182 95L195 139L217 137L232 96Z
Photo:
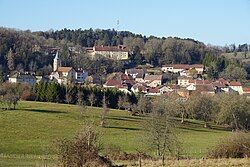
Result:
M17 110L0 112L0 157L5 159L0 160L0 166L7 166L1 163L8 162L4 157L12 155L24 157L24 161L25 157L54 155L56 139L72 138L85 124L98 124L101 112L101 108L88 107L82 117L76 105L27 101L20 102ZM141 122L142 117L110 110L107 126L97 126L103 146L115 144L123 151L136 152L142 133ZM194 120L184 124L178 121L176 125L183 152L189 157L202 157L207 148L230 134L218 126L205 129L202 122Z

